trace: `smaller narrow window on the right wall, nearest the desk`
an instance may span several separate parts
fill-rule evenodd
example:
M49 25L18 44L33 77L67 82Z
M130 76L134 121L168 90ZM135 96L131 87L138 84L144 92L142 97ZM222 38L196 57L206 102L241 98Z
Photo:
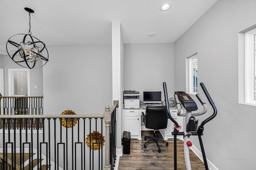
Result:
M197 53L188 58L187 87L190 94L197 94L198 57Z

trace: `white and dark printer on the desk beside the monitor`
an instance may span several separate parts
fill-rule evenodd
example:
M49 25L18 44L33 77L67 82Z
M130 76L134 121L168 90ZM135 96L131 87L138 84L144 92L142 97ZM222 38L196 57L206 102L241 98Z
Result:
M135 90L124 90L124 108L139 109L140 108L140 92Z

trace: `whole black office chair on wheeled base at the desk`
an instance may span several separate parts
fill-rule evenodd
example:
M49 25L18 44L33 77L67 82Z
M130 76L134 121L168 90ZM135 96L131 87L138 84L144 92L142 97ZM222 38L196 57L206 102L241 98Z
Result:
M166 111L166 106L147 106L146 107L146 115L144 112L142 112L142 120L145 124L145 127L148 129L154 129L154 137L149 137L145 136L144 139L147 140L147 138L150 138L149 141L144 143L144 148L146 148L146 144L155 141L157 147L158 147L158 152L161 152L160 147L158 145L157 141L162 141L165 142L165 145L168 146L168 142L159 139L158 135L156 135L156 130L159 129L166 129L167 127L167 111Z

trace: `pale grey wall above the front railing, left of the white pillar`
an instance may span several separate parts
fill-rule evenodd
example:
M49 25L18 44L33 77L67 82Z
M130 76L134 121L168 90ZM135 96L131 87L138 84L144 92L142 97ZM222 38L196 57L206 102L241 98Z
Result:
M103 114L112 106L111 44L48 45L44 114Z

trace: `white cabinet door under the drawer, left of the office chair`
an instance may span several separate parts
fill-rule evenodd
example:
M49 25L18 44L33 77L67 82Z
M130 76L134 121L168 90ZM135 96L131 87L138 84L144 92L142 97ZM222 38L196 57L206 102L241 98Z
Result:
M139 117L124 117L124 131L128 131L132 135L140 135L140 119Z

